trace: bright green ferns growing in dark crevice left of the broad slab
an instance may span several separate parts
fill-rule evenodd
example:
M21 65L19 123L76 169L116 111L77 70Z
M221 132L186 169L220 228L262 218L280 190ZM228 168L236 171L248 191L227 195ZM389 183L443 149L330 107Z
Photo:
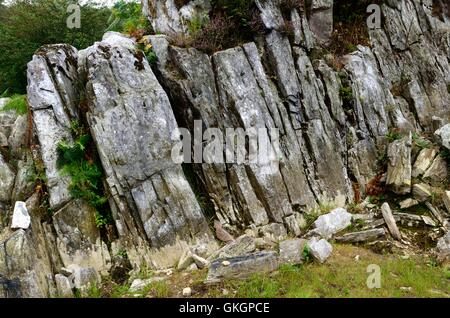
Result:
M78 122L72 122L73 143L58 143L57 167L70 176L69 191L74 198L88 202L96 210L95 222L99 228L112 222L108 200L103 189L103 170L95 154L91 136Z

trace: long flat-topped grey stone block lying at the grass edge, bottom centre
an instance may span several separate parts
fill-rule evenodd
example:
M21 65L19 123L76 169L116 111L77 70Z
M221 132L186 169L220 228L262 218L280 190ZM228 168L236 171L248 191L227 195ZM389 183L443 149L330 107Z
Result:
M206 284L218 283L222 279L246 279L254 273L269 273L276 270L279 264L277 253L273 251L228 258L228 266L223 266L223 261L218 259L211 263Z

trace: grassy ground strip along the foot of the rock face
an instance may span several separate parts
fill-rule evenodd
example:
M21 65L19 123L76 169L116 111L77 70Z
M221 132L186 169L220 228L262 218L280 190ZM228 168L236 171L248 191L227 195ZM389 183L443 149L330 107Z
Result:
M370 264L380 266L381 288L367 287ZM128 293L128 286L106 283L91 289L89 296L181 297L183 288L191 287L192 297L450 297L448 268L437 266L429 259L402 259L347 245L334 246L333 256L322 265L282 266L270 275L213 286L202 283L205 276L206 271L174 273L168 280L135 294Z

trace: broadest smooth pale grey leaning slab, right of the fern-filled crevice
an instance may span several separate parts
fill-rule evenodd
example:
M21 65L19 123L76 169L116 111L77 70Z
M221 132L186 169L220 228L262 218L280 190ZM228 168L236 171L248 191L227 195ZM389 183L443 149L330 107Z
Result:
M172 140L177 123L169 99L134 46L129 38L106 33L80 53L79 64L89 79L87 117L121 244L138 258L148 254L148 241L161 254L151 262L167 267L186 245L213 250L216 242L181 166L171 159L178 139Z

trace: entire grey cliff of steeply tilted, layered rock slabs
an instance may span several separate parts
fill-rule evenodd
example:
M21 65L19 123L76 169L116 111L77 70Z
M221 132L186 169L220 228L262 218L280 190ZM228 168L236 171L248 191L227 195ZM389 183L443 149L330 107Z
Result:
M280 259L301 261L304 242L286 238L303 234L306 212L323 200L342 206L366 196L386 153L386 185L399 195L412 189L425 202L433 194L425 182L442 185L447 177L438 152L449 148L450 22L436 16L431 1L382 4L383 24L368 30L370 47L342 57L316 54L332 38L335 1L286 10L278 0L257 0L255 18L265 30L212 55L173 44L212 1L142 3L159 34L146 40L155 63L113 32L83 51L44 46L28 64L31 117L0 111L0 296L71 297L74 287L86 290L108 272L126 277L141 266L210 266L209 282L269 272ZM6 102L0 99L0 108ZM71 178L57 167L59 142L74 142L74 120L86 123L103 168L112 223L102 230L95 209L73 197ZM194 137L208 128L223 136L230 128L279 134L269 136L274 155L264 162L198 160L194 151L184 153L194 163L181 165L172 155L183 128ZM388 143L392 132L402 137ZM436 132L442 148L419 152L413 132ZM230 152L240 154L218 151ZM412 185L415 178L424 183ZM28 217L14 212L16 201L26 202ZM450 211L449 202L446 193ZM396 221L445 225L438 209L435 222L388 208L372 225L386 224L398 240ZM316 221L316 234L328 239L350 222L335 210ZM387 233L373 227L337 239ZM216 239L226 245L219 249ZM278 241L280 257L255 253ZM332 251L325 239L308 246L320 262ZM117 265L117 255L130 263Z

